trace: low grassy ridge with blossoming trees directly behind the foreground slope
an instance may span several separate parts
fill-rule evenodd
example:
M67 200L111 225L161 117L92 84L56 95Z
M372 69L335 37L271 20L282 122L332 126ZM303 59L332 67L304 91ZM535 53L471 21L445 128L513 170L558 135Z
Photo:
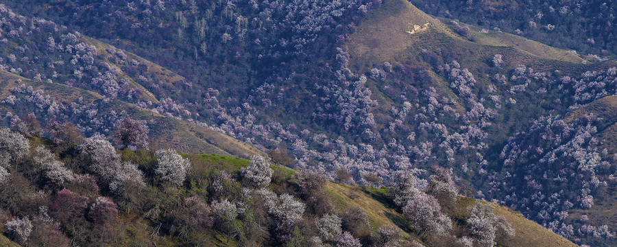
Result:
M106 99L73 86L36 82L7 71L0 71L0 86L0 97L4 99L0 108L5 113L1 121L4 126L23 132L41 132L43 123L45 134L51 136L54 128L66 124L82 127L79 132L111 134L113 129L110 128L117 121L130 116L147 123L150 137L147 144L153 148L173 147L186 152L244 157L263 154L251 145L210 128L165 117L127 102Z

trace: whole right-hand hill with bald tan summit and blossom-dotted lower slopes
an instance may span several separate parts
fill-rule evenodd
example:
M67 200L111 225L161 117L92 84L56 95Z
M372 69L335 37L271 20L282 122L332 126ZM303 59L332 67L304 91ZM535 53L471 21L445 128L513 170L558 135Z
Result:
M424 25L426 23L428 25ZM465 30L465 28L468 29ZM387 119L391 123L394 122L389 125L389 128L392 128L396 126L396 121L406 122L404 117L398 118L396 115L392 117L392 112L396 114L399 111L405 111L409 107L402 107L403 104L407 104L405 101L412 104L419 103L420 107L415 113L415 121L425 121L426 124L421 123L419 128L413 131L416 133L415 139L422 137L418 133L424 133L424 131L442 132L445 137L441 139L442 141L422 139L433 143L433 147L439 145L439 149L433 150L438 153L443 148L448 150L448 147L452 147L455 154L457 153L456 145L450 140L459 137L447 137L449 132L462 134L461 130L480 127L479 131L486 133L486 138L482 139L482 143L487 143L490 147L486 151L480 151L484 154L482 159L459 160L456 155L449 154L444 160L452 164L453 169L460 169L460 176L463 178L470 174L488 172L487 176L491 178L487 178L484 182L479 182L478 180L483 180L483 178L476 175L468 177L470 183L474 185L484 184L481 187L488 193L480 193L481 197L496 198L501 203L523 211L526 217L537 220L542 226L551 228L552 231L570 239L578 235L586 239L588 244L613 243L609 237L612 233L605 235L600 233L599 229L606 225L609 229L616 227L614 222L609 220L612 214L605 213L611 210L612 206L609 205L612 205L614 201L614 195L611 192L614 191L614 183L608 176L614 172L612 156L616 152L614 147L617 143L612 141L614 139L612 128L613 115L616 111L612 108L610 101L612 96L605 97L605 95L615 93L612 86L609 86L615 84L614 68L612 68L615 67L615 62L598 62L597 60L592 62L592 60L585 60L588 58L581 58L569 51L549 47L520 36L487 30L481 32L481 28L473 25L448 19L437 20L424 14L408 1L398 0L384 1L380 8L370 12L356 32L350 35L348 46L350 69L354 73L363 73L369 77L367 84L371 85L370 89L375 92L374 95L379 102L378 107L381 109L375 111L376 119ZM391 69L392 67L394 69ZM413 74L409 75L410 73ZM577 77L577 74L582 75ZM427 77L428 80L426 80ZM559 90L555 91L557 87ZM422 90L426 89L428 92L422 93ZM440 99L441 97L444 99ZM504 102L504 99L507 100ZM478 107L479 102L481 102L481 107ZM487 102L490 103L487 104ZM457 125L444 117L448 115L444 113L444 110L440 110L444 106L451 109L450 114L480 116L477 119L470 119L471 124L468 126L460 122ZM431 107L435 108L435 113L431 112ZM405 115L411 114L413 111L405 113ZM589 114L594 115L597 120L591 123L583 120ZM431 119L432 115L436 117L434 120ZM545 124L546 119L551 118L545 116L560 119L560 115L564 116L564 122L568 124L568 127L557 130L559 129L557 122L561 120L555 121L555 124ZM474 125L474 121L481 123L486 121L491 126ZM529 126L528 123L533 126ZM531 129L526 130L527 128ZM592 135L583 137L583 134L572 134L559 137L559 131L572 130ZM536 142L535 138L538 134L544 134L544 138L548 137L556 142L553 144L545 141ZM595 139L589 139L590 137ZM582 143L577 143L576 138L584 139ZM515 145L521 146L514 148ZM532 150L537 147L542 149L538 149L539 153L536 154ZM599 155L601 158L598 161L590 161L590 167L596 167L596 165L600 167L601 164L604 166L601 169L590 169L592 175L589 178L583 178L582 186L571 186L572 182L577 179L569 180L570 185L551 182L550 179L546 179L547 174L551 174L548 177L555 178L556 181L561 179L560 176L564 177L566 176L564 174L569 174L570 171L585 173L587 170L581 168L583 166L580 165L578 168L565 165L564 163L569 160L566 158L567 155L559 156L559 162L563 162L561 164L564 165L557 165L550 169L542 167L547 165L540 165L552 163L553 160L549 158L561 154L564 150L572 150L572 152L576 150L587 153L586 155ZM509 162L515 164L513 169L509 168L508 164L512 164ZM579 158L578 162L585 161ZM415 163L420 165L422 160L419 162L416 158ZM487 163L487 165L471 168L473 163ZM460 164L463 166L461 167ZM469 170L475 172L468 172ZM511 174L516 174L516 176ZM544 174L545 178L535 174ZM590 181L595 180L594 177L608 184L607 187L602 185L595 187L598 192L592 192L593 196L588 196L594 198L596 206L590 206L588 215L593 220L585 222L581 221L580 217L588 212L587 210L581 211L576 206L574 209L568 209L571 206L561 203L564 200L581 200L576 199L581 197L572 192L577 191L579 195L582 193L585 196L588 192L584 192L583 188L588 186ZM531 183L542 181L540 182L542 185L533 187L535 185L529 185L530 181ZM568 195L567 192L564 194L564 191L572 192ZM563 197L561 197L561 202L555 199L546 200L549 205L553 206L537 207L537 204L527 201L533 198L533 193L548 193L554 196L560 195L560 197L563 195ZM516 198L527 199L520 202ZM563 218L564 220L557 220L557 222L565 223L560 225L561 223L557 222L551 223L553 220L550 219L557 217L537 216L537 212L542 210L555 213L566 213L567 211L570 215ZM574 226L573 231L566 227L569 225ZM591 230L578 231L578 228ZM600 237L590 237L592 235L590 233L594 231L596 236ZM585 241L577 242L577 244L585 243Z

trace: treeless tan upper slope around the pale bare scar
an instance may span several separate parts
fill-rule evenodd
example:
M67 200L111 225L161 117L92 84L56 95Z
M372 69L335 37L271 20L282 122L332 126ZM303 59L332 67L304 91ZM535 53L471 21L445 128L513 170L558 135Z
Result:
M418 26L418 31L412 32L415 26ZM517 59L520 64L537 64L536 60L540 58L577 64L583 61L568 51L520 36L498 32L480 34L476 31L471 32L476 41L474 43L438 19L418 10L409 1L391 0L384 1L380 8L370 12L358 30L350 36L348 45L352 64L357 71L370 69L359 67L366 62L404 62L418 57L422 49L455 47L459 52L469 55L470 58L465 60L470 61L480 61L482 59L478 58L482 54L491 52L520 57Z

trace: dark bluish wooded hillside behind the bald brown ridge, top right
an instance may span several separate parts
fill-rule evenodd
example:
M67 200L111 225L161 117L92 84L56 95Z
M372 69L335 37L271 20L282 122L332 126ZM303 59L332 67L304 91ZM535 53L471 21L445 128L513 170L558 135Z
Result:
M611 1L584 3L548 0L526 1L424 1L412 0L428 14L460 19L486 30L517 34L579 54L615 57Z

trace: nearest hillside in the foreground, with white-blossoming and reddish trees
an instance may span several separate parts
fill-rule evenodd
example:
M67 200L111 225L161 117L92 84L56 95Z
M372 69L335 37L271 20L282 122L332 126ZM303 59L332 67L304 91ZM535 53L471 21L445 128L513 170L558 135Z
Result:
M457 196L442 168L425 193L411 174L395 188L361 187L262 156L114 150L100 137L75 145L3 128L0 148L5 246L573 246Z

